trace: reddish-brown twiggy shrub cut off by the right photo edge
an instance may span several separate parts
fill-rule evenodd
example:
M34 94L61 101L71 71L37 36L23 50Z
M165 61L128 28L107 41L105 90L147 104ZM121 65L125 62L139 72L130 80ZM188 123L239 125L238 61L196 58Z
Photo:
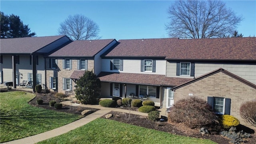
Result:
M256 127L256 100L244 102L240 107L240 115Z

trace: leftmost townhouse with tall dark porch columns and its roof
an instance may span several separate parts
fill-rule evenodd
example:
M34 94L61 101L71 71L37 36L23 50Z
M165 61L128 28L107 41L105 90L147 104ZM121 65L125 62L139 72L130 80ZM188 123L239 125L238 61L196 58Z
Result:
M67 36L44 36L0 39L1 83L12 82L14 88L23 81L36 84L46 83L45 58L50 52L70 43ZM32 85L32 86L31 86Z

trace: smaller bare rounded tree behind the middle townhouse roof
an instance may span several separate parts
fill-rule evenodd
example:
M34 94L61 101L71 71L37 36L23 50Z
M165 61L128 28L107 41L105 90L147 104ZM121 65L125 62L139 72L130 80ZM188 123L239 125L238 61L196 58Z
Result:
M81 14L69 15L68 18L60 23L58 33L66 35L72 40L99 39L100 28L90 18Z

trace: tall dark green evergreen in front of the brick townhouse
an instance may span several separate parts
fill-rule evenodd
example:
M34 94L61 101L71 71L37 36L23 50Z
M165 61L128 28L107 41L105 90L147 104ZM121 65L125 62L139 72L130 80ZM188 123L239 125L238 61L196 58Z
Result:
M76 82L76 98L83 104L97 104L100 98L100 79L92 71L85 71Z

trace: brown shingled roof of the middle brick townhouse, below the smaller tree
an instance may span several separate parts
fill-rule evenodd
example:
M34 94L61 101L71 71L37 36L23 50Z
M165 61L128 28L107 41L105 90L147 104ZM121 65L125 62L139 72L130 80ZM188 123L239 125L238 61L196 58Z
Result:
M50 54L52 57L92 57L115 39L106 40L76 40L60 50Z

